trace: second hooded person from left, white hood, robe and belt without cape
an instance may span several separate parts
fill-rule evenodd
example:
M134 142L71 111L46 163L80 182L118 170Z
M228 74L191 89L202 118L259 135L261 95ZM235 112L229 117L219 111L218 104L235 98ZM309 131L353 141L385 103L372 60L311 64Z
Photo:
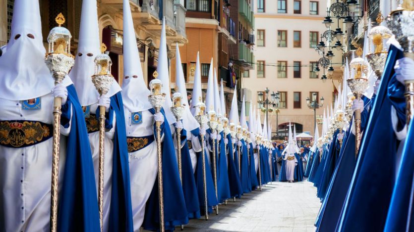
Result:
M92 150L97 188L99 184L99 122L96 117L99 113L97 113L97 109L99 109L99 106L105 106L106 112L109 112L111 103L110 97L121 91L118 83L114 80L109 92L100 97L92 83L91 77L95 73L94 60L97 55L101 54L100 45L97 2L95 0L83 1L79 29L79 44L75 57L75 65L68 75L75 85L79 102L84 111L89 143ZM103 231L108 231L109 229L116 120L117 117L114 113L112 128L106 129L105 133ZM111 122L107 122L107 124L108 123L111 124ZM106 125L106 127L108 127L108 125Z

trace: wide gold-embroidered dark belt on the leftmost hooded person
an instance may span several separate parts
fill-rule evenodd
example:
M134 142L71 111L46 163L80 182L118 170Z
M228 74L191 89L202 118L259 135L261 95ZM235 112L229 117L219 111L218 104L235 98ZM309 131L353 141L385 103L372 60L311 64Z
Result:
M37 121L0 121L0 145L26 147L46 141L53 136L53 126Z

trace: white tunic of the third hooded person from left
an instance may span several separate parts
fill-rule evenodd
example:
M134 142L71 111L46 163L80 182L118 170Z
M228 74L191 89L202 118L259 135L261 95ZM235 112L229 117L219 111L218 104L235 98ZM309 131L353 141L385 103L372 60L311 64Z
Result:
M132 124L131 111L124 107L127 137L154 135L154 116L148 110L142 111L142 123ZM158 171L157 143L128 153L129 177L131 182L132 216L134 231L139 231L144 220L145 204L151 194Z

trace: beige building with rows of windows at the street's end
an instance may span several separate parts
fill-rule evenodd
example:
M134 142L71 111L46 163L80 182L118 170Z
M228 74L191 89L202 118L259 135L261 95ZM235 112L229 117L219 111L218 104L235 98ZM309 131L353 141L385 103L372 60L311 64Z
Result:
M247 100L256 105L258 93L265 88L270 93L279 92L278 120L276 110L269 113L272 135L275 136L278 128L279 136L284 137L289 122L296 124L297 133L313 135L314 114L306 98L312 99L312 93L316 93L321 103L323 96L325 107L333 102L334 95L332 79L321 80L323 68L313 72L316 61L321 58L313 47L326 30L322 24L326 0L255 0L255 3L255 65L241 78L246 97L249 95ZM316 109L318 116L323 114L324 107ZM264 113L262 123L263 118Z

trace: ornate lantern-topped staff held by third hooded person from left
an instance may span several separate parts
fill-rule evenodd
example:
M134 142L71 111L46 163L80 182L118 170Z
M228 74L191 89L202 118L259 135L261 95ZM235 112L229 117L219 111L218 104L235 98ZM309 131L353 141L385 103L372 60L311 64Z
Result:
M163 107L166 94L161 93L162 82L157 79L158 72L155 71L152 76L155 78L150 81L151 95L148 96L148 100L152 107L155 109L155 113L159 113ZM158 154L158 201L160 203L160 230L165 231L164 223L164 192L163 192L163 163L162 163L162 150L161 150L161 122L155 122L155 131L157 137L157 154Z

